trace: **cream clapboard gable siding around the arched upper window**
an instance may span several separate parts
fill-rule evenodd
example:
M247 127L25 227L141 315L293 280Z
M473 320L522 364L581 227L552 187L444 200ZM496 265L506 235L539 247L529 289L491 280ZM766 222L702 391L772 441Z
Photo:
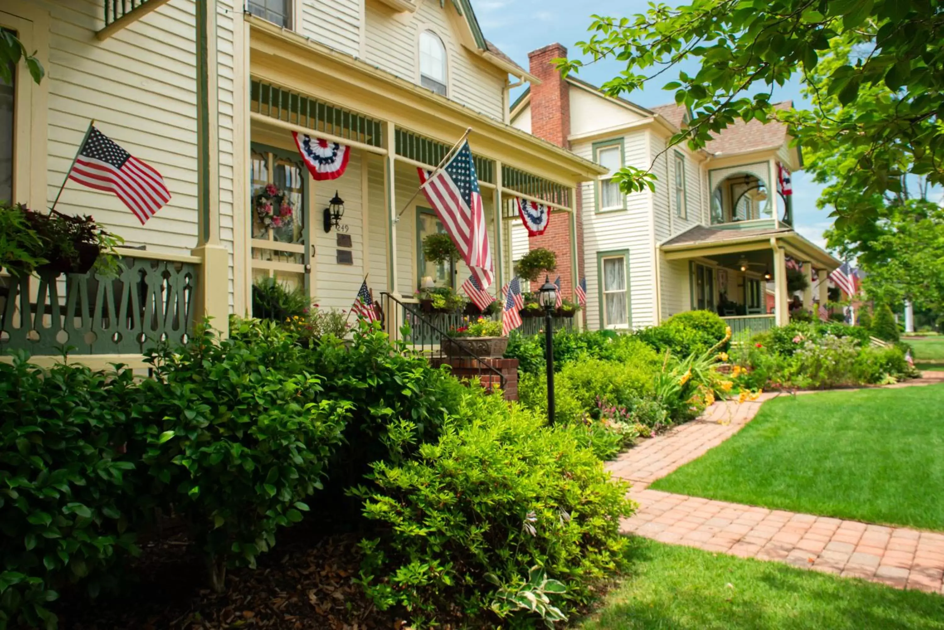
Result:
M456 10L451 2L441 7L439 0L417 0L417 5L413 13L396 13L376 0L367 0L365 60L418 83L419 33L430 29L446 46L448 97L501 120L507 74L478 59L460 43L455 28L466 26L463 17L452 19L447 14Z

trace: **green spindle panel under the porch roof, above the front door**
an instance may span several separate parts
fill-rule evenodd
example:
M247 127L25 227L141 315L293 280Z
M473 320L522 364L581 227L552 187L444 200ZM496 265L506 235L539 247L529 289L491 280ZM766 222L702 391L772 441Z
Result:
M364 145L383 145L379 120L255 79L249 84L249 111Z

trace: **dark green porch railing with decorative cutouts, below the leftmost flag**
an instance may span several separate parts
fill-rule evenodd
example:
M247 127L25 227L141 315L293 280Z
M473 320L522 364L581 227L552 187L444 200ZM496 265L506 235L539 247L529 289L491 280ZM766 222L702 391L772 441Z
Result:
M0 350L33 355L140 354L193 330L197 264L123 258L117 278L94 272L0 279Z

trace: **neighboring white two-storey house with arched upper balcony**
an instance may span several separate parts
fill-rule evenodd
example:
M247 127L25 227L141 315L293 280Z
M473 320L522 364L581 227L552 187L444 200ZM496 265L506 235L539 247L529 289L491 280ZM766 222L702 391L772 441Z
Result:
M557 45L553 56L565 57ZM647 109L612 98L579 78L562 79L535 60L531 74L542 84L515 101L515 127L548 140L563 137L565 146L610 174L632 165L658 176L654 193L629 196L610 174L582 184L589 328L636 329L708 309L729 318L735 332L767 329L788 317L788 259L801 264L807 278L813 269L828 272L839 265L792 228L792 196L784 193L779 174L788 179L802 168L802 157L784 125L738 121L703 150L666 149L687 120L683 108ZM547 95L558 91L565 101ZM514 251L527 238L515 231ZM768 313L767 281L774 282L777 315ZM826 288L826 282L811 281L804 307L813 308L815 289L825 304Z

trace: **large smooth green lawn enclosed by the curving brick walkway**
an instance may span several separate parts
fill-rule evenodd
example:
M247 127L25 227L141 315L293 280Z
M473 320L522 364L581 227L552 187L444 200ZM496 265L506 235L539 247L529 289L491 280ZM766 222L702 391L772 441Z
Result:
M739 433L652 487L944 530L944 385L768 400Z

